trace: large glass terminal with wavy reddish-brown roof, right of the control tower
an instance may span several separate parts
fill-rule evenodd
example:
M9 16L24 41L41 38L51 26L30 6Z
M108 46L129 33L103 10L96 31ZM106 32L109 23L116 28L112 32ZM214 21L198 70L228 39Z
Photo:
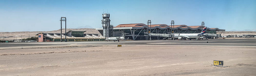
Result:
M123 33L127 33L125 35L125 39L129 37L129 40L147 40L147 32L149 33L200 33L203 26L187 26L187 25L166 25L166 24L155 24L155 25L146 25L143 23L138 24L120 24L116 27L113 27L111 37L121 36ZM103 28L96 28L101 34L103 34ZM206 33L217 34L217 32L223 32L225 29L219 28L207 28ZM220 37L221 34L218 35ZM151 39L158 40L163 39L161 36L151 36Z

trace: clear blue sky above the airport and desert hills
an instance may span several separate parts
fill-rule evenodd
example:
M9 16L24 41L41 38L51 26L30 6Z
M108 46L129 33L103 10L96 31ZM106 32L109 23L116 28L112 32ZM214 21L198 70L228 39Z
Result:
M110 24L201 25L210 28L256 29L256 0L0 0L0 32L52 31L89 25L100 28L103 9Z

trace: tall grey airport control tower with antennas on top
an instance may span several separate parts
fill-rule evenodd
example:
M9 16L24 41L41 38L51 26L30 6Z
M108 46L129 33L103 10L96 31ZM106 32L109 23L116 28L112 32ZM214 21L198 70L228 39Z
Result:
M102 14L102 27L103 27L103 36L104 37L111 37L110 36L110 33L111 33L111 30L113 30L113 25L110 25L110 14L109 13L103 13Z

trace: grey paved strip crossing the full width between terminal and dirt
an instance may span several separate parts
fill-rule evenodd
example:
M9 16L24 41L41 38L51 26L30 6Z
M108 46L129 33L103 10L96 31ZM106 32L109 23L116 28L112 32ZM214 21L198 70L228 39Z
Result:
M208 42L208 43L207 43ZM211 40L123 40L90 42L43 42L43 43L0 43L0 47L44 46L44 45L209 45L209 46L256 46L256 39L211 39Z

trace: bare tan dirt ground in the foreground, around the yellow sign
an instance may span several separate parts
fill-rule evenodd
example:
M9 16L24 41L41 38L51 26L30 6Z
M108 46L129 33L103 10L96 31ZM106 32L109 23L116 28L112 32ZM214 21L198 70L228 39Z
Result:
M0 50L0 76L255 76L255 47L88 46ZM227 67L212 67L223 60Z

